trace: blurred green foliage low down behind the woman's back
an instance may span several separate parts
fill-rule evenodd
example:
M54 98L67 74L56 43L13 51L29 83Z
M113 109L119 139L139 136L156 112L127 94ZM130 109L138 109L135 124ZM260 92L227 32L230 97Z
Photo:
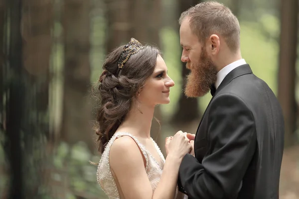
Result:
M105 194L96 180L97 166L89 161L98 163L99 156L92 155L84 142L79 142L72 147L61 142L57 146L53 164L58 172L52 178L56 182L62 182L63 179L69 182L69 199L75 197L74 195L84 195L88 199L100 196L104 199Z

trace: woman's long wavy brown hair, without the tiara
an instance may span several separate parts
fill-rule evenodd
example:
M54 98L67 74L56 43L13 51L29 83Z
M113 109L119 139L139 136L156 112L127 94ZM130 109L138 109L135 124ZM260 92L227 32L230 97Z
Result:
M101 153L131 109L137 92L153 73L156 58L160 55L155 47L144 46L138 53L130 56L121 74L117 75L117 62L123 48L124 45L108 55L99 79L100 85L95 90L98 93L95 96L98 100L95 131Z

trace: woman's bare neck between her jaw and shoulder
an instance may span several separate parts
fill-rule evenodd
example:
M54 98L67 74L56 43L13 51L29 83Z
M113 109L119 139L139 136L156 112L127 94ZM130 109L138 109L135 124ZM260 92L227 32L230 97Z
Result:
M150 138L154 106L138 106L137 103L134 104L136 105L133 105L117 131L128 132L137 137Z

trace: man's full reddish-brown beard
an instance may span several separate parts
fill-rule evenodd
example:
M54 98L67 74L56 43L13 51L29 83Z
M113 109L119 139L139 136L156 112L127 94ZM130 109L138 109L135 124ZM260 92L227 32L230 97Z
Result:
M201 49L197 64L188 62L187 68L191 72L187 75L185 95L190 98L206 95L210 91L211 85L216 82L217 71L204 48Z

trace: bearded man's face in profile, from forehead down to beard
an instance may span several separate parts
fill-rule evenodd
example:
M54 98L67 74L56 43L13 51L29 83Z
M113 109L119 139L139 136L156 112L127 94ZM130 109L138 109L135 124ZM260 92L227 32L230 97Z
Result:
M182 21L179 34L183 47L181 61L187 62L186 67L191 71L187 76L185 95L187 97L202 97L216 82L216 68L207 55L205 45L200 44L197 36L191 32L188 18Z

